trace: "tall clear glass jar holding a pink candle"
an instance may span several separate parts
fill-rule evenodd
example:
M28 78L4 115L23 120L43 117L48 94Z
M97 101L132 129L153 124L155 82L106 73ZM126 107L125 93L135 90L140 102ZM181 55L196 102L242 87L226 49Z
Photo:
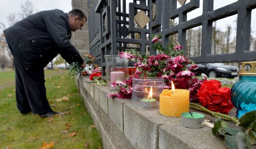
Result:
M128 59L120 58L118 55L106 55L106 80L110 86L118 78L128 75Z

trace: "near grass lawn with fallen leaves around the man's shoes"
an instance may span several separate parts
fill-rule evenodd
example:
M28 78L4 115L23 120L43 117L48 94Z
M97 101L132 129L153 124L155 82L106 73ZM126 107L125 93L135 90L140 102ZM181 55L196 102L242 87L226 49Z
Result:
M44 141L53 142L54 149L102 149L100 134L94 129L74 79L56 75L46 79L46 88L53 110L67 115L22 115L16 107L14 86L0 89L0 149L38 149ZM63 97L67 101L57 101Z

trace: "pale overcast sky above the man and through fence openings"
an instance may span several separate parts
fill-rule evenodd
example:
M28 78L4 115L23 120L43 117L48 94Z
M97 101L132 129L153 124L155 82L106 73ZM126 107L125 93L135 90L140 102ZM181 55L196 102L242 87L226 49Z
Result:
M15 13L20 10L20 5L24 4L26 0L0 0L0 22L4 23L8 26L7 23L7 16L10 13ZM64 12L68 12L72 9L71 6L72 0L31 0L31 2L34 4L34 8L36 9L36 12L43 11L43 10L51 10L51 9L61 9ZM127 0L129 1L129 0ZM186 3L188 3L190 0L187 0ZM202 14L202 1L200 0L200 8L195 9L192 12L188 13L188 20L193 19L197 16L200 16ZM231 4L233 2L236 2L237 0L214 0L214 10L218 9L222 6L226 6L228 4ZM180 7L180 5L177 2L177 7ZM237 15L233 15L231 17L218 20L216 25L217 28L224 31L226 30L228 25L231 25L231 27L234 29L236 27L236 20ZM252 18L256 18L256 9L252 11ZM252 28L252 35L254 37L256 34L256 19L251 20L251 28ZM232 36L236 36L236 31L232 31Z

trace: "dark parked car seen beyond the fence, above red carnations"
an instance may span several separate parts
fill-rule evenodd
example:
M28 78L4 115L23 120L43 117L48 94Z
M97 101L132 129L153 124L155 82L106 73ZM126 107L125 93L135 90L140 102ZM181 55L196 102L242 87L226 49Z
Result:
M234 66L225 65L223 63L202 63L197 64L198 69L193 70L195 75L206 74L209 77L227 77L234 78L238 75L239 69Z

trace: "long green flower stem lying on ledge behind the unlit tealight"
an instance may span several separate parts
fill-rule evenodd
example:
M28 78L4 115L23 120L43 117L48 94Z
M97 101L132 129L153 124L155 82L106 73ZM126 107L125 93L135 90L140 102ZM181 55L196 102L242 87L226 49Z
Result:
M222 114L222 113L218 113L218 112L212 112L208 109L206 109L205 107L203 106L200 106L200 105L197 105L195 103L189 103L189 107L192 108L192 109L195 109L195 110L199 110L199 111L202 111L202 112L206 112L210 115L212 115L213 117L221 117L223 120L228 120L228 121L231 121L233 123L237 123L239 122L239 119L238 118L235 118L235 117L231 117L229 115L226 115L226 114Z

